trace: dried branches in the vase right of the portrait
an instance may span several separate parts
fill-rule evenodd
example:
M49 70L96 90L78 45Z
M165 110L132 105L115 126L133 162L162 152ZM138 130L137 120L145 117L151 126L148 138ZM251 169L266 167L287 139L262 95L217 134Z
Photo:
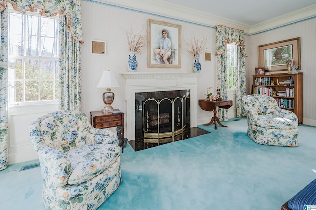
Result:
M193 57L199 57L203 52L206 52L208 50L208 47L206 47L206 43L208 39L206 39L204 36L199 39L196 37L196 35L193 34L193 39L186 41L184 40L188 48L186 49L190 55Z

